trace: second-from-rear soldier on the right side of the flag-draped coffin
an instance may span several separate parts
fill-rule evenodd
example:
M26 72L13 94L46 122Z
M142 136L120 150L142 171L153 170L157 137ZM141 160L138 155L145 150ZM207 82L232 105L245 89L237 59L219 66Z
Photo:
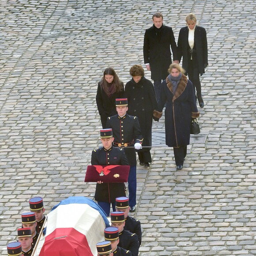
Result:
M111 226L117 227L119 232L119 246L132 252L133 256L139 254L138 236L127 230L124 230L125 220L123 211L111 212Z

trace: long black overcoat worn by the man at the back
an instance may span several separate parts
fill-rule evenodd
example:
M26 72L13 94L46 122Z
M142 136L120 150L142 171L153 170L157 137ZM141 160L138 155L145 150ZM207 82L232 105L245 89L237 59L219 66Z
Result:
M177 45L173 35L173 29L162 25L162 36L158 40L154 26L146 29L143 44L144 63L149 63L152 80L164 80L169 75L168 68L173 60L178 59Z

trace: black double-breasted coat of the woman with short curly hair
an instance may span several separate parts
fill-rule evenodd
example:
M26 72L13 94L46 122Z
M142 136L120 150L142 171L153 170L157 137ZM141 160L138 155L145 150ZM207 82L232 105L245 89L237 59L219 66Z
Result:
M142 146L151 146L152 118L154 109L157 108L153 84L145 77L138 83L132 79L125 85L124 95L128 99L128 114L139 119L139 127L143 136Z

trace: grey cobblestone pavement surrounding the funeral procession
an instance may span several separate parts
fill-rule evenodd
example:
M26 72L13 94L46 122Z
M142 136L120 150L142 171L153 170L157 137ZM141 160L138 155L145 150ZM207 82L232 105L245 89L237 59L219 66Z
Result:
M108 66L130 79L161 11L176 40L190 12L207 30L207 137L188 147L182 171L168 147L152 150L149 169L138 166L140 255L256 255L255 4L0 0L0 254L30 197L42 196L47 212L68 196L93 199L95 184L83 180L99 144L98 81Z

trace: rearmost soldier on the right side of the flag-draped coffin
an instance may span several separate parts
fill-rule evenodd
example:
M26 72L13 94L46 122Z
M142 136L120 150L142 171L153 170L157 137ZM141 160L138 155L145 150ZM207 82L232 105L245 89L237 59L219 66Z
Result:
M128 230L131 233L136 233L139 239L139 246L141 245L141 226L139 220L128 216L129 214L129 198L128 197L117 197L116 198L116 210L124 212L125 225L124 230Z

